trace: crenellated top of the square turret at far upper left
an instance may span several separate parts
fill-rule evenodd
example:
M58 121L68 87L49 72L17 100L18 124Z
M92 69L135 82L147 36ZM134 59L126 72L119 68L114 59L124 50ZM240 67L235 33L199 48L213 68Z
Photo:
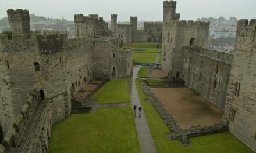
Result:
M17 21L30 21L29 18L29 10L23 9L8 9L8 20L9 22L17 22Z

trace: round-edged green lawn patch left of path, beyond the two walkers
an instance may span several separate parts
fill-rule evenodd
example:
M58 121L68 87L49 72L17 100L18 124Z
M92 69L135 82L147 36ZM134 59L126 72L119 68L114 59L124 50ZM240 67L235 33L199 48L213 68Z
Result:
M103 85L91 99L97 99L100 104L130 102L128 79L116 79Z

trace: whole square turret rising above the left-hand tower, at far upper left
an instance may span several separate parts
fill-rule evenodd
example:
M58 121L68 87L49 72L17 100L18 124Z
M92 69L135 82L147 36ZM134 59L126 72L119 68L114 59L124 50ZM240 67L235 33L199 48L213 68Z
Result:
M13 34L26 34L30 38L30 18L29 10L8 9L8 20L10 23L10 31Z

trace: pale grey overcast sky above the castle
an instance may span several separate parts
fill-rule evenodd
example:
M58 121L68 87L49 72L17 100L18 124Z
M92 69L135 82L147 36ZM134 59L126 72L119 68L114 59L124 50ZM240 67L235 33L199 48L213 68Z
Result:
M74 20L74 14L99 14L105 21L110 14L118 14L118 21L129 21L130 16L138 20L162 21L162 0L0 0L0 18L7 16L7 9L28 9L30 14ZM177 0L176 12L182 20L197 17L230 16L238 19L256 18L256 0Z

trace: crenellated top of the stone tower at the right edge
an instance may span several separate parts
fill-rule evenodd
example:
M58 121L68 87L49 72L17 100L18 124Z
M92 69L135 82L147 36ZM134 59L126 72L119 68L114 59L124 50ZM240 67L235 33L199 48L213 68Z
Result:
M237 23L236 35L240 37L250 37L255 40L256 33L256 19L251 19L250 22L247 19L241 19Z

